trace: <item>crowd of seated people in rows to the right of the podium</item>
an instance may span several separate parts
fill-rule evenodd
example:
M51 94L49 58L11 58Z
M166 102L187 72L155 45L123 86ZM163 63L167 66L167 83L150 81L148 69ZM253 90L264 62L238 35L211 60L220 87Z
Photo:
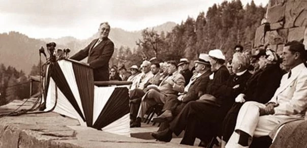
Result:
M207 146L219 137L221 147L248 147L253 138L305 116L306 57L304 45L292 41L281 56L269 48L252 53L238 45L232 57L213 49L194 62L144 61L140 73L137 65L129 68L130 127L141 127L148 109L161 104L162 114L152 119L161 125L151 133L159 141L185 131L180 144L194 145L199 138L200 146Z

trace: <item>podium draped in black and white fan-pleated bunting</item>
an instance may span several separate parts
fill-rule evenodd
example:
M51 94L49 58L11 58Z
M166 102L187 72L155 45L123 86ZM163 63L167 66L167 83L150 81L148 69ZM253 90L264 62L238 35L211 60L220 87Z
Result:
M130 136L127 86L96 86L93 69L70 59L48 65L43 83L45 111L77 119L81 126Z

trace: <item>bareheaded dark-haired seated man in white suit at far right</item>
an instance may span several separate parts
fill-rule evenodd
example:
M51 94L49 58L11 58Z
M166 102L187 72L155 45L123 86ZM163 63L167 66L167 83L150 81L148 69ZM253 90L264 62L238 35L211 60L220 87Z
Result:
M297 41L285 44L283 66L289 72L266 103L246 102L241 107L226 147L248 147L253 137L267 136L280 123L303 119L307 109L307 68L304 45Z

